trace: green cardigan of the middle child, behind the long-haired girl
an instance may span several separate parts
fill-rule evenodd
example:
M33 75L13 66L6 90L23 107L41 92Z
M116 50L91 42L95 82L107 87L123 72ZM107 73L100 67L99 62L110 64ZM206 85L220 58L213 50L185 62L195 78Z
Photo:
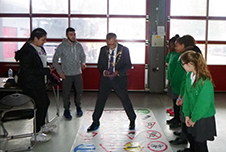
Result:
M183 95L184 87L183 82L185 81L186 71L181 65L180 54L175 57L175 69L172 72L172 79L170 79L170 86L173 89L173 93Z

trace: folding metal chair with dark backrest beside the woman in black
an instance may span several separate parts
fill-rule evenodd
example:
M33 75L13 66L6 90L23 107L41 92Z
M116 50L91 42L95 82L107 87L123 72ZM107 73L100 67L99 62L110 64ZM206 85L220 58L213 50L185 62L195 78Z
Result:
M9 136L9 133L4 126L5 122L31 118L33 118L33 132ZM19 93L13 93L3 97L0 100L0 126L3 129L3 134L0 134L0 138L17 139L31 137L32 135L36 136L36 107L34 100L25 94ZM26 149L31 149L35 144L36 139L35 142L30 143L30 146L26 147ZM10 146L7 146L7 148L11 149ZM15 150L18 149L16 148Z

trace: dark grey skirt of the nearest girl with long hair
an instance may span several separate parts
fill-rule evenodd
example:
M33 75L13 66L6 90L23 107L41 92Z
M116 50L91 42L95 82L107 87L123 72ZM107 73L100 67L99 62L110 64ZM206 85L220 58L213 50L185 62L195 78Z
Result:
M194 127L189 127L187 131L198 142L213 141L214 136L217 136L215 117L202 118L195 123Z

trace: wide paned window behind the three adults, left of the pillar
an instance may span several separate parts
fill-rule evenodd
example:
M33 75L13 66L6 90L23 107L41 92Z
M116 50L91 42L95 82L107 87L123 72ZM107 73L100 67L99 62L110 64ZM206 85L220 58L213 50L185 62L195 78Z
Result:
M106 34L114 32L129 47L132 63L145 64L146 5L147 0L0 0L0 61L14 61L14 52L37 27L47 31L44 47L51 61L71 26L87 63L97 63Z

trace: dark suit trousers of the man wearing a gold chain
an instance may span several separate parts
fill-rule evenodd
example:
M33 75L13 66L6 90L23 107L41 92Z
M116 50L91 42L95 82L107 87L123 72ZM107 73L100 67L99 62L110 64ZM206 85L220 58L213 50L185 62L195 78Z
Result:
M127 92L127 85L127 76L117 76L113 80L110 80L108 77L101 77L99 93L93 113L94 123L99 123L99 119L103 113L105 103L112 89L114 89L116 95L121 100L129 120L134 121L136 119L136 114Z

